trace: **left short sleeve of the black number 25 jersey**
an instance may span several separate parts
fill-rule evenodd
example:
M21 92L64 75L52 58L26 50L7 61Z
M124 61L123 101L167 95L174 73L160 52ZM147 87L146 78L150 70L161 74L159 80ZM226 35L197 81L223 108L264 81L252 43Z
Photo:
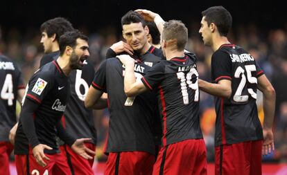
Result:
M217 51L212 55L211 77L215 83L220 80L232 80L232 62L227 53Z

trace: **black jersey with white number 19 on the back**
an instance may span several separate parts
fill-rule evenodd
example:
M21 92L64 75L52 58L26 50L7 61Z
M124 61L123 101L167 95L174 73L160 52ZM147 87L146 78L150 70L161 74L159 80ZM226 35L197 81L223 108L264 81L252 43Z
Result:
M186 53L184 57L162 60L141 81L148 89L157 90L163 146L202 138L195 55Z

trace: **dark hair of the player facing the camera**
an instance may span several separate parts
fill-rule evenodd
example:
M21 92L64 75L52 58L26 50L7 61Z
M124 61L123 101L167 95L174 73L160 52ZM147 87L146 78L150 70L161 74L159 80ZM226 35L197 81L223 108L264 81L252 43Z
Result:
M132 23L140 23L143 25L143 27L146 26L146 21L143 19L143 17L138 13L134 12L132 10L128 11L121 17L121 26L125 24L132 24Z

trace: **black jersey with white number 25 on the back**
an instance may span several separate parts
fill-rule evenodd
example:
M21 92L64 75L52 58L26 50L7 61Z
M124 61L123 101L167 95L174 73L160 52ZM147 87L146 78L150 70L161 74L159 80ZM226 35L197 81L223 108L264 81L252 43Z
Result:
M257 77L263 71L252 55L234 44L223 44L211 57L211 79L232 82L229 99L215 97L215 145L263 139L256 107Z

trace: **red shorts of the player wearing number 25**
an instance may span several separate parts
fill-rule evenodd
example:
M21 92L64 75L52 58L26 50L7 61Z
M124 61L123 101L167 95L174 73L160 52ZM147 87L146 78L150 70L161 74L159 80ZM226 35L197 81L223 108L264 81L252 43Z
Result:
M262 143L256 140L216 147L215 174L261 175Z

